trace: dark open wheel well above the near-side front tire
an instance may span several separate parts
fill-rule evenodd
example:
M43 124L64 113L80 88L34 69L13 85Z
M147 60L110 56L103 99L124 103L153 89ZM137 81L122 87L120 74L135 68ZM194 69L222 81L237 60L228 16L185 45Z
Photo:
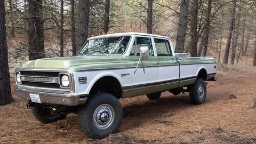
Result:
M105 76L100 79L92 86L90 95L97 92L107 92L113 94L117 99L122 97L122 86L119 81L112 76Z

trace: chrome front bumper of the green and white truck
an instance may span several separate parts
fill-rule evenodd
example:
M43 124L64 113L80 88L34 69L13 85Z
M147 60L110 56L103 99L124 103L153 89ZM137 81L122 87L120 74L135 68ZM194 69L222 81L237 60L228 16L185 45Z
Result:
M17 86L15 92L18 97L30 100L29 93L39 94L41 103L63 105L63 106L77 106L79 101L86 101L86 95L79 95L70 91L57 91L57 90L38 90L28 89L27 87Z

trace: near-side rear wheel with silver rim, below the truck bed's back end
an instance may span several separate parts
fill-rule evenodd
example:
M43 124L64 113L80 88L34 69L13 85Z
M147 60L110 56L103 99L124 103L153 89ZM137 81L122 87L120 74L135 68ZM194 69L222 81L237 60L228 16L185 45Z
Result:
M206 99L206 84L203 78L197 78L193 85L189 86L189 97L193 104L201 105Z

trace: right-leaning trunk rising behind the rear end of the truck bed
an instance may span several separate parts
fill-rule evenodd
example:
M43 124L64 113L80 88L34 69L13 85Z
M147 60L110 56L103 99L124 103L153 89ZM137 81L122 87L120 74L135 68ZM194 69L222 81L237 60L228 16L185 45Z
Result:
M201 51L198 51L197 56L200 55L205 57L207 53L207 46L208 46L208 40L209 40L209 34L210 34L210 17L211 17L211 9L212 9L212 0L208 0L208 6L207 6L207 14L206 14L206 26L204 29L204 36L202 39L202 53Z

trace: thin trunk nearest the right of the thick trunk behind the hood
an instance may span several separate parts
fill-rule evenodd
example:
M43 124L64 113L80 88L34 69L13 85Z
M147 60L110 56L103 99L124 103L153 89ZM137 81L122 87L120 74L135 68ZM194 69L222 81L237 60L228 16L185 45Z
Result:
M60 57L64 56L64 15L63 15L63 0L60 1Z

